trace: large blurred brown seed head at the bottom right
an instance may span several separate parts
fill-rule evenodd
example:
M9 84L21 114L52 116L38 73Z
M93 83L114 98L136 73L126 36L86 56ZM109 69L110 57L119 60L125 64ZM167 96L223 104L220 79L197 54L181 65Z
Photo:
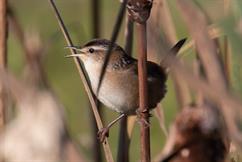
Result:
M191 106L176 117L162 162L225 162L229 145L221 114L211 105Z

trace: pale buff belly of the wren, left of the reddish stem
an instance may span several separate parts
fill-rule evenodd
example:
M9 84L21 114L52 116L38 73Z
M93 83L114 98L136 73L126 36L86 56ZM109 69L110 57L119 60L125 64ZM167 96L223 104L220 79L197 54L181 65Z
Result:
M138 108L138 79L123 75L106 74L103 78L99 93L97 77L89 76L93 92L108 108L120 113L133 113Z

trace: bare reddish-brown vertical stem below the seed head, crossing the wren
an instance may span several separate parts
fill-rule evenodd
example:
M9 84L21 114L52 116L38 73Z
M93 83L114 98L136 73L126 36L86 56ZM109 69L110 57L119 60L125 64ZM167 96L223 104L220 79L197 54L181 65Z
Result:
M150 162L150 128L148 94L147 94L147 37L146 22L137 24L138 31L138 73L139 73L139 107L141 111L141 161Z

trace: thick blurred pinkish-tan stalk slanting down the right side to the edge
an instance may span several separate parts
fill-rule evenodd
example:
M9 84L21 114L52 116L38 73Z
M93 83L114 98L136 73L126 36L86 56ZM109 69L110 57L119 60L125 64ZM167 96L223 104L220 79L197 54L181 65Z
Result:
M214 42L209 39L206 19L201 11L191 3L185 0L179 0L177 1L177 4L185 22L187 23L189 31L195 40L208 82L212 86L210 91L212 91L212 93L215 91L221 97L219 99L220 101L217 98L217 103L220 104L219 108L221 108L220 111L222 112L226 123L226 133L232 141L235 141L237 145L241 146L241 132L236 123L236 118L237 120L238 117L240 118L239 114L241 114L241 103L231 101L233 97L228 92L227 80L222 70L223 66L221 65L220 58L216 53L216 46ZM194 19L196 19L196 21L194 21ZM201 88L201 92L203 90L204 89ZM214 96L209 97L212 99Z

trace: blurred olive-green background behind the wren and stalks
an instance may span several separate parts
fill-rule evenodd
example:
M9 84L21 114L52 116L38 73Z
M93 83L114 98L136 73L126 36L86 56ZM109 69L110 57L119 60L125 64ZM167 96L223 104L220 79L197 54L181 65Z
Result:
M222 0L196 0L194 1L203 11L210 16L210 24L216 24L221 29L229 34L229 39L233 42L233 60L241 60L240 54L241 36L235 34L234 28L236 20L239 19L241 8L236 7L236 12L223 17L223 1ZM236 1L235 1L236 2ZM238 0L239 3L239 0ZM87 96L82 86L82 82L78 75L74 62L71 59L66 59L64 56L69 54L69 51L64 49L66 42L59 29L52 8L47 0L9 0L9 4L16 13L21 26L25 31L37 31L41 40L46 45L45 57L43 64L47 73L49 83L55 94L59 97L61 103L65 106L66 119L68 128L72 137L79 144L83 154L92 161L91 157L91 119L90 108L88 106ZM61 15L71 34L71 38L75 45L82 45L92 38L92 10L90 0L56 0L56 4L61 11ZM111 37L112 28L119 10L118 0L101 0L101 37L109 39ZM154 1L154 5L155 1ZM177 30L177 37L188 37L186 27L182 21L180 14L177 11L175 0L169 0L169 6L172 12L174 24ZM236 6L236 4L234 4ZM240 5L242 6L242 5ZM240 20L241 21L241 20ZM124 23L119 34L118 44L124 45ZM135 53L135 50L133 50ZM192 50L188 50L186 57L193 55ZM9 69L20 75L24 67L23 49L19 45L18 40L13 33L9 32L8 39L8 64ZM233 63L234 71L232 73L233 85L236 92L241 94L241 65L239 61ZM162 101L164 108L166 126L169 127L171 121L175 117L177 104L175 91L172 81L168 81L168 93ZM107 124L109 121L117 117L116 112L109 109L103 109L103 119ZM151 118L151 154L152 156L159 153L164 145L165 136L162 133L158 120L155 117ZM131 162L139 160L139 124L135 124L134 133L131 142ZM118 124L110 131L110 144L113 156L117 154L118 144Z

